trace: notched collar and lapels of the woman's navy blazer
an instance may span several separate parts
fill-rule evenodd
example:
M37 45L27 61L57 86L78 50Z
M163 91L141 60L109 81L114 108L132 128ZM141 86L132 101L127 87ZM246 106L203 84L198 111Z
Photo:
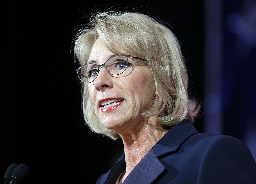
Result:
M159 161L159 157L176 151L179 146L190 136L198 133L191 121L185 120L173 126L142 158L132 172L124 180L123 184L150 184L165 169ZM104 184L114 184L118 176L125 170L124 154L116 162L108 174Z

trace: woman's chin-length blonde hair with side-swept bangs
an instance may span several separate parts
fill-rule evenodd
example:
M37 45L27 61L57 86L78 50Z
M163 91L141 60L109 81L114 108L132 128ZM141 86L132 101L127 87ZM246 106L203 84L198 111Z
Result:
M172 31L148 15L133 12L95 13L88 24L74 37L74 54L80 65L84 65L97 38L114 52L125 50L128 54L147 60L156 86L153 106L142 115L157 115L157 121L173 126L185 119L192 122L200 105L188 96L188 74L180 44ZM113 140L119 135L105 128L97 118L87 90L82 83L82 109L85 123L98 134Z

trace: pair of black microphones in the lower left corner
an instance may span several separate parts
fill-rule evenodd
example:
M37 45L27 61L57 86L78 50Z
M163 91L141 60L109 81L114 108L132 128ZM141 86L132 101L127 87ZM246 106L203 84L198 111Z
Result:
M4 175L5 184L15 184L23 180L28 174L28 167L25 164L11 164Z

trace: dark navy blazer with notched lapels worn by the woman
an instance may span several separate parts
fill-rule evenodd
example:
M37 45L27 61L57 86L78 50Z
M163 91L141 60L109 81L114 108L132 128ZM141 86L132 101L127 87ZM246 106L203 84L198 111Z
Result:
M114 184L125 170L124 154L97 184ZM240 140L198 133L190 121L173 126L123 184L256 184L256 164Z

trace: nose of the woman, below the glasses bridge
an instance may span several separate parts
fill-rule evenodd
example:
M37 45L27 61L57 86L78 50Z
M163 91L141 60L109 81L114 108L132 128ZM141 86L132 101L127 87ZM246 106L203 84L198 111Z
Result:
M100 67L97 78L93 81L96 90L106 90L113 87L111 75L104 66Z

